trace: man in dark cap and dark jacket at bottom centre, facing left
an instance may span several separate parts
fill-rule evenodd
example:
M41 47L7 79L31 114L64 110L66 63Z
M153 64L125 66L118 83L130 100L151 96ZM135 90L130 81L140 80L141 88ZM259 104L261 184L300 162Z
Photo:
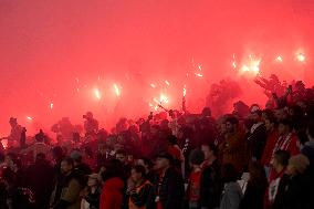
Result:
M185 196L182 176L172 166L174 158L168 153L157 156L155 169L158 173L148 198L149 209L180 209Z

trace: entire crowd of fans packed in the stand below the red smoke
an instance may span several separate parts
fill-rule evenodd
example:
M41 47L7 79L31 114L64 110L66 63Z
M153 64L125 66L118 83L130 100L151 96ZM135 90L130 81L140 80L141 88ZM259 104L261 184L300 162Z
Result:
M11 118L0 208L311 209L314 88L263 82L265 108L239 101L219 118L169 111L107 132L87 113L84 136L63 118L56 142Z

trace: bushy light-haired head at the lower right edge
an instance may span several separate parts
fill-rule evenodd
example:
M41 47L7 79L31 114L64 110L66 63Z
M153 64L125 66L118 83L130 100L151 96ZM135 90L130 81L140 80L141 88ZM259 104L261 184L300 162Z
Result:
M305 155L300 154L296 156L292 156L289 159L286 174L291 176L304 174L304 171L306 170L308 166L310 166L310 160Z

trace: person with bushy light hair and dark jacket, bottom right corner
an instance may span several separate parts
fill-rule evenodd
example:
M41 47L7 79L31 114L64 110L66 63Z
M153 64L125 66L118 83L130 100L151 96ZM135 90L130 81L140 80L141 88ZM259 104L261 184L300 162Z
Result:
M289 159L286 174L282 177L273 209L313 208L313 179L311 178L310 160L305 155L296 155Z

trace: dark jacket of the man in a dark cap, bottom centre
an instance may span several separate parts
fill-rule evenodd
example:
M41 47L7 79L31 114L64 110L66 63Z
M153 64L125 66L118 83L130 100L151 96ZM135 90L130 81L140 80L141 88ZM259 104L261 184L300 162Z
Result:
M180 209L184 196L182 176L175 168L169 168L163 179L156 177L148 197L147 208L156 209L156 197L159 197L164 209Z

